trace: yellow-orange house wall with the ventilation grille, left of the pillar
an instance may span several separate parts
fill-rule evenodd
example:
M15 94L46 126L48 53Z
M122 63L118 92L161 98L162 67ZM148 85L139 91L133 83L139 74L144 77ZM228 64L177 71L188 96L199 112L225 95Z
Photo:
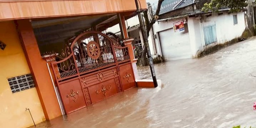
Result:
M0 49L0 128L25 128L45 120L36 88L12 93L8 78L30 73L14 21L0 22L0 40L7 46Z

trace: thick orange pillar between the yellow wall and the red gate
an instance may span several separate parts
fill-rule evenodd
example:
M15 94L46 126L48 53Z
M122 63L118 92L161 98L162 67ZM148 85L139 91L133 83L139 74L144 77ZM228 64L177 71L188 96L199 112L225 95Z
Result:
M60 107L54 92L49 71L42 58L34 35L33 28L28 19L17 20L16 26L20 34L20 41L33 75L36 90L47 120L61 116Z

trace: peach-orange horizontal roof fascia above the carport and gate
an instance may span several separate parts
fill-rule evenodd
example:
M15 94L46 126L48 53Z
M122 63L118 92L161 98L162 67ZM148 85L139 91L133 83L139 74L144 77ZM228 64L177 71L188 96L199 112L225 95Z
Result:
M140 0L146 9L146 0ZM135 11L134 0L0 0L0 20Z

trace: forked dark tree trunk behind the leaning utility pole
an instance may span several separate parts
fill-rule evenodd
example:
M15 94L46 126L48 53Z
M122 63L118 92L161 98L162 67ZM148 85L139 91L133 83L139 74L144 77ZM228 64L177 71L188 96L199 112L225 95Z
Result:
M162 5L163 1L164 0L158 0L158 4L157 4L157 8L156 8L156 13L152 16L152 19L150 21L148 19L148 11L143 11L147 36L149 36L150 29L152 28L153 24L155 24L156 20L158 19L158 15L159 15L159 12L160 12L160 9L161 9L161 5ZM143 47L142 53L139 56L139 58L142 59L142 65L143 66L147 66L148 65L148 60L147 60L146 55L147 55L146 48Z

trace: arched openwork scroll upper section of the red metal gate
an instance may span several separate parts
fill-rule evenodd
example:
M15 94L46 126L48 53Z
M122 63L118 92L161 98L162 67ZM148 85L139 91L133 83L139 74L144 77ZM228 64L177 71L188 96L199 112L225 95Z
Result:
M128 48L119 39L97 31L84 32L72 41L57 56L57 62L52 63L53 69L57 69L55 76L60 76L56 77L58 80L114 66L130 58Z

